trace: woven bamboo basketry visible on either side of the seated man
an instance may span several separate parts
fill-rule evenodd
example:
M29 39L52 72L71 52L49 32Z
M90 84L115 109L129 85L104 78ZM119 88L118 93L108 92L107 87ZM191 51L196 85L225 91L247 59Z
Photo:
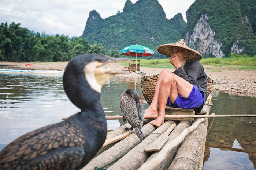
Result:
M148 74L141 77L142 94L149 105L151 104L154 97L158 75L159 74ZM212 92L212 85L213 85L213 80L211 76L207 76L207 94L208 95Z

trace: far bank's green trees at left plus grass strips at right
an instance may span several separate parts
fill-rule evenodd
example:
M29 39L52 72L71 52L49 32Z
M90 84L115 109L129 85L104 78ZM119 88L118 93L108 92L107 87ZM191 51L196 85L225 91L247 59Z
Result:
M27 28L20 27L20 25L20 23L15 24L14 22L9 27L7 22L0 24L0 61L69 61L75 56L85 53L127 57L120 55L119 50L115 47L106 50L106 47L101 43L94 42L91 45L88 40L81 37L69 38L59 34L49 36L45 35L44 32L42 34L35 33ZM154 56L141 58L141 66L173 68L167 57L163 56L166 59L154 59ZM219 66L240 65L241 69L255 69L255 57L248 57L246 54L240 56L231 53L228 58L204 58L201 62L206 65L212 63Z

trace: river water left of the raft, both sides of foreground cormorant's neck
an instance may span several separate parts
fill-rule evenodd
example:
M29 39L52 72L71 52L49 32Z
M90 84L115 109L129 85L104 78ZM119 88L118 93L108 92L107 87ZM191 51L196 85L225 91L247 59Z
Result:
M140 92L140 79L114 77L101 91L101 104L106 115L122 115L119 96L127 88ZM0 150L27 132L57 123L79 111L67 98L62 75L0 74ZM108 120L109 130L122 125L121 120Z

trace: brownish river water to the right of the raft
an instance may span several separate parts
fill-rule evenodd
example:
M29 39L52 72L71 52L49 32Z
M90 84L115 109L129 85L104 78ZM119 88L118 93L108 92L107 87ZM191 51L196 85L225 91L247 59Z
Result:
M214 92L212 98L211 111L216 114L256 114L255 97ZM255 138L256 117L215 118L207 135L211 154L204 169L211 169L213 162L220 165L218 169L255 169Z

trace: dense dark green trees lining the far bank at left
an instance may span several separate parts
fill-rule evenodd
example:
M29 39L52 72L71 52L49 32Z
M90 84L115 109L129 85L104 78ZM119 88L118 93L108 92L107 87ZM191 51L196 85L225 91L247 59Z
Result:
M80 37L40 34L14 22L0 25L0 61L69 61L79 54L106 53L101 43L89 44Z

